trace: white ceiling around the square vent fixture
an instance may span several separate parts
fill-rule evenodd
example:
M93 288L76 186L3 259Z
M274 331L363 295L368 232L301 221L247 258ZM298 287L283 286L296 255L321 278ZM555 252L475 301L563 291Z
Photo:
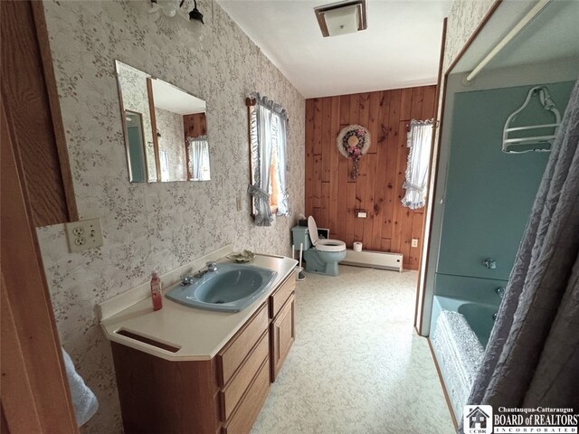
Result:
M305 98L436 83L452 0L366 0L368 28L324 38L333 0L218 0Z

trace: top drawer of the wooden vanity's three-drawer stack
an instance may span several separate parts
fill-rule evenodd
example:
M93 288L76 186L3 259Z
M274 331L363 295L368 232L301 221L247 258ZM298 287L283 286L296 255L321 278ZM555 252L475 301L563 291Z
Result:
M237 332L223 350L217 354L217 382L219 386L224 386L229 382L233 373L237 371L247 354L252 350L253 345L268 329L269 318L266 307L267 303L261 305L242 330Z

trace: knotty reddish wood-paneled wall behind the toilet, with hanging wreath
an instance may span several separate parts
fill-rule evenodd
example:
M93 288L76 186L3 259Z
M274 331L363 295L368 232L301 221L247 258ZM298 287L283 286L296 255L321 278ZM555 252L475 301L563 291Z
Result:
M306 100L306 214L349 249L403 253L405 269L418 269L424 209L402 206L410 120L434 116L436 86L384 90ZM368 128L372 146L352 179L351 160L337 151L343 127ZM357 211L367 217L356 217ZM418 246L411 247L413 238Z

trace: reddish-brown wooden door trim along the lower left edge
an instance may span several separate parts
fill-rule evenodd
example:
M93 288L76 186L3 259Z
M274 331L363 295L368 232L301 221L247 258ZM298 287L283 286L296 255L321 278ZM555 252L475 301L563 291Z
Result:
M0 237L2 254L2 408L12 432L37 415L40 432L78 433L43 261L24 188L23 167L0 110ZM7 321L7 327L5 327ZM16 344L18 343L18 344ZM14 363L18 363L15 366ZM21 374L16 375L20 371ZM23 382L22 372L27 381ZM9 394L7 392L10 392ZM24 399L32 393L33 400ZM21 401L23 400L24 401Z

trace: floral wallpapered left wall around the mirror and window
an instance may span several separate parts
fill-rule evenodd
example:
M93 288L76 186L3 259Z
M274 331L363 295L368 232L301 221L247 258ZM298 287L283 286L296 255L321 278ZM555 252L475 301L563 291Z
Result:
M289 255L290 228L304 211L305 102L298 90L216 2L197 2L210 42L204 48L185 21L154 21L147 3L43 3L79 212L99 217L104 234L100 249L69 253L63 225L38 230L62 345L100 401L84 433L122 432L110 344L95 305L147 281L153 269L176 269L229 242ZM128 183L116 59L207 101L211 181ZM289 113L292 216L269 228L253 225L246 193L244 100L252 91Z

